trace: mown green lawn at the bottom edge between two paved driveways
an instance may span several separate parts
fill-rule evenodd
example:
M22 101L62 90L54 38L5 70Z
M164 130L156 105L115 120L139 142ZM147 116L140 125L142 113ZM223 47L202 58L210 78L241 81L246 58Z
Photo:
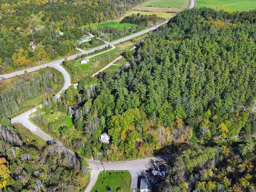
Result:
M106 187L110 187L113 192L130 192L132 177L129 172L101 172L91 192L105 192Z

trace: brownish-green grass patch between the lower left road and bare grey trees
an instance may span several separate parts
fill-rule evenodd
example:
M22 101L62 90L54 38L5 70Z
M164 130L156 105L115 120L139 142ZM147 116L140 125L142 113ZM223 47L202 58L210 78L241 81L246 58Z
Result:
M39 149L43 148L46 145L46 141L44 139L29 131L22 124L15 123L13 124L13 126L15 127L16 131L18 132L24 143L32 144Z

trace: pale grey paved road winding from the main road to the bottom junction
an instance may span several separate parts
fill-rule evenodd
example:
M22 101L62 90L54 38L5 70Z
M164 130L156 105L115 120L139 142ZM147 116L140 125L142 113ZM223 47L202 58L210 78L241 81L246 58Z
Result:
M194 8L194 6L195 6L195 0L191 0L189 9ZM161 23L157 26L154 26L152 28L145 29L145 30L140 31L138 33L135 33L133 35L123 37L123 38L118 39L116 41L110 42L109 45L111 45L112 49L114 49L115 48L114 45L119 44L120 42L129 40L131 38L140 36L144 33L149 32L149 31L155 30L156 28L158 28L159 26L161 26L163 24L166 24L167 22L168 21L166 21L164 23ZM97 48L93 48L93 49L88 50L88 51L83 51L81 53L74 54L74 55L68 57L68 60L75 59L78 55L81 55L81 54L93 53L96 50L103 49L105 46L106 45L102 45L102 46L99 46ZM109 51L109 50L106 50L106 51ZM104 51L104 52L106 52L106 51ZM98 53L98 54L101 54L101 53ZM94 57L98 54L89 56L89 58L92 58L92 57ZM29 73L29 72L37 71L41 68L53 67L53 68L59 70L63 74L64 80L65 80L62 89L60 90L59 93L57 93L55 95L55 98L59 98L60 94L63 91L65 91L66 89L68 89L68 87L71 85L71 80L70 80L70 76L69 76L68 72L60 65L63 61L64 61L64 59L62 58L62 59L58 59L58 60L55 60L55 61L52 61L52 62L45 63L44 65L36 66L36 67L29 68L29 69L26 69L26 70L21 70L21 71L9 73L9 74L0 75L0 79L1 78L10 78L10 77L13 77L13 76L16 76L16 75L22 75L25 72ZM41 106L41 105L39 105L39 106ZM31 121L29 121L29 115L31 113L35 112L35 111L36 111L36 108L33 108L33 109L15 117L15 118L13 118L11 120L11 122L12 123L22 123L25 127L27 127L27 129L29 129L30 131L32 131L36 135L40 136L41 138L45 139L46 141L47 140L52 140L53 138L51 136L49 136L45 132L41 131L39 129L39 127L37 127ZM63 147L65 147L65 146L63 146ZM165 156L165 157L167 157L167 156ZM157 168L156 167L157 165L155 164L155 161L156 160L163 161L165 159L165 157L152 157L152 158L137 159L137 160L132 160L132 161L122 161L122 162L99 162L99 161L94 161L94 160L87 160L88 163L89 163L89 168L91 169L91 173L90 173L91 177L90 177L90 182L89 182L85 192L90 192L91 191L91 189L93 188L93 186L94 186L94 184L97 180L98 175L100 174L100 172L102 170L129 170L129 172L132 175L131 188L136 189L137 188L137 178L138 178L138 176L145 174L145 170L148 169L148 168Z

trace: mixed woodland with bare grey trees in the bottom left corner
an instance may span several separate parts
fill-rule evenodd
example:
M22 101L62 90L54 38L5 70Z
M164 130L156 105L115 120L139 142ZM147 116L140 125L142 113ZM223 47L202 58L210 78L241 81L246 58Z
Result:
M39 148L40 138L26 140L17 133L17 129L22 127L0 125L1 191L84 190L89 177L86 162L79 161L58 144L45 143Z

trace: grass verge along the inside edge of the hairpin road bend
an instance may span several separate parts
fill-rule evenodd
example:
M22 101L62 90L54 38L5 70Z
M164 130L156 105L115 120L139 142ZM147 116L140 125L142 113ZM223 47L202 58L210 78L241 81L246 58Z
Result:
M0 94L1 94L1 91L5 91L7 89L13 89L14 88L13 85L16 82L26 81L25 78L31 79L34 74L40 73L41 71L45 71L45 72L46 71L51 71L52 73L56 73L61 78L61 81L64 83L63 76L58 70L56 70L54 68L44 68L44 69L34 71L34 72L31 72L31 73L26 73L26 74L23 74L23 75L19 75L19 76L15 76L15 77L5 79L5 80L1 80L0 81ZM51 94L52 96L57 94L61 90L61 88L63 86L63 83L61 83L59 86L56 86L54 84L52 85L53 90L54 90L53 94ZM36 106L40 105L41 102L46 99L46 97L49 97L49 96L50 96L50 94L46 95L45 93L42 93L42 94L38 95L35 98L28 99L28 100L24 101L22 103L22 109L19 110L16 114L11 115L10 118L16 117L16 116L32 109L32 108L35 108Z

